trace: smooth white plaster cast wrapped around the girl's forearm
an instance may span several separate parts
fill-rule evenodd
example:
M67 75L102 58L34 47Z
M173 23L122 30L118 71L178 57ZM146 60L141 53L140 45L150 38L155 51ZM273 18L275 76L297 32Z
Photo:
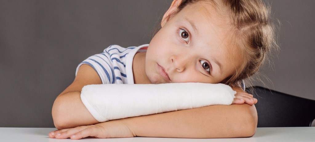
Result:
M209 105L231 105L236 92L225 84L98 84L82 88L83 104L99 122Z

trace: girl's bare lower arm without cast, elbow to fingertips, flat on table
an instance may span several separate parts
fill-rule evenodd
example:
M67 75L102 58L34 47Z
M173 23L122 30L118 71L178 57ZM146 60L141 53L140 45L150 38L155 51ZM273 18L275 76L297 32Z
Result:
M237 138L254 135L257 126L255 106L234 105L232 111L235 111L232 114L226 111L231 109L228 106L213 105L190 110L111 120L95 125L53 131L49 133L49 138L81 139L88 136L93 138L129 138L135 136ZM245 112L238 112L242 110Z

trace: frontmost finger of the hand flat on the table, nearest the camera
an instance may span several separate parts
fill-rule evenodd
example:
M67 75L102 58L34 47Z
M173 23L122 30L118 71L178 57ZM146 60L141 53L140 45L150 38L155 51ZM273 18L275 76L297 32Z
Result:
M89 136L96 136L101 132L100 127L89 127L71 135L71 139L82 139Z

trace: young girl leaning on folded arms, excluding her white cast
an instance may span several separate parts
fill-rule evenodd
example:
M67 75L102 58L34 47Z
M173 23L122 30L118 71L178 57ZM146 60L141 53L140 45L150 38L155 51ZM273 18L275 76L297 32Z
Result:
M76 78L55 100L59 130L50 138L250 137L257 99L240 88L272 48L269 12L260 0L174 0L150 44L117 45L84 60ZM238 92L232 105L129 117L99 123L83 105L81 89L105 83L225 83ZM79 126L79 127L78 127Z

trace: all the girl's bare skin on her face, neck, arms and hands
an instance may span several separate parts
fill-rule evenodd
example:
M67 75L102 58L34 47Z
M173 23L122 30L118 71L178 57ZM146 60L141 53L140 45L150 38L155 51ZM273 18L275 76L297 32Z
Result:
M170 19L167 18L180 2L174 0L165 13L162 29L153 37L147 52L135 55L135 83L218 83L235 73L235 69L241 65L242 58L231 60L228 56L237 57L239 51L230 52L229 30L221 27L220 18L211 5L198 3L187 6ZM199 10L198 14L192 12L195 9ZM198 34L183 17L194 23ZM183 32L180 29L187 31L188 40L180 36ZM221 62L221 71L214 59ZM210 71L202 66L201 61L209 63ZM157 64L164 68L169 79L163 77ZM233 88L238 92L234 105L213 105L99 123L83 105L80 91L85 85L101 83L92 67L81 65L74 82L54 102L52 115L59 130L49 133L50 138L235 138L252 136L257 127L254 106L257 99L240 88Z

